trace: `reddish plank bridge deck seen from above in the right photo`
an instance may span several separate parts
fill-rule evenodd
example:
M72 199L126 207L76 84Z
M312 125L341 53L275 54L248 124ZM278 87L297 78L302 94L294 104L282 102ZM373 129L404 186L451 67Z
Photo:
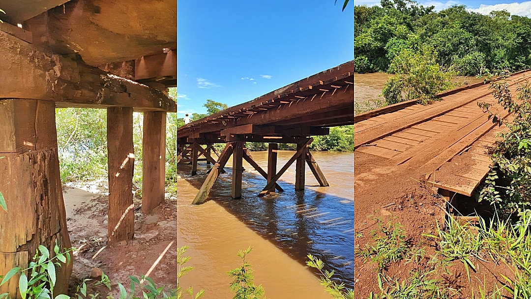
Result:
M531 71L513 73L509 89ZM492 104L501 119L510 119L483 82L439 95L431 105L401 102L354 117L355 152L386 159L390 168L415 170L439 194L470 197L491 169L489 150L502 129L477 102Z

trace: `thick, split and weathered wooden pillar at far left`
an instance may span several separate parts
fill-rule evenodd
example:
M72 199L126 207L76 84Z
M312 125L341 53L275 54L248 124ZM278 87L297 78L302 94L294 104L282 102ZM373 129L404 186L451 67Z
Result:
M70 248L57 155L55 103L0 100L0 275L27 268L39 245L52 255L55 242ZM73 260L73 259L72 259ZM56 268L54 294L66 294L72 262ZM19 276L0 287L17 294Z

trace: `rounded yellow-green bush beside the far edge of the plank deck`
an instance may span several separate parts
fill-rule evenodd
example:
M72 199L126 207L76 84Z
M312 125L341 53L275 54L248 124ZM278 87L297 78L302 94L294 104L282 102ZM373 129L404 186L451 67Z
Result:
M444 72L436 62L432 48L424 47L418 52L406 48L392 60L389 71L396 75L389 78L382 90L386 104L418 99L423 104L437 100L436 95L451 89L453 73Z

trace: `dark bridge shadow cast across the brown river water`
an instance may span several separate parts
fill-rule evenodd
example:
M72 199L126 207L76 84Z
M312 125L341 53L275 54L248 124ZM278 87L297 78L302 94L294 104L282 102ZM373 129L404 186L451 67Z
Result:
M189 165L179 165L178 174L199 190L210 167L198 163L197 176L201 178L190 176ZM209 200L220 204L296 261L305 264L309 253L322 259L326 270L335 271L336 281L354 288L352 198L311 190L307 188L311 184L304 191L295 191L294 184L285 181L277 182L284 192L258 197L267 181L260 175L244 172L242 198L233 200L230 198L232 170L226 171L212 187Z

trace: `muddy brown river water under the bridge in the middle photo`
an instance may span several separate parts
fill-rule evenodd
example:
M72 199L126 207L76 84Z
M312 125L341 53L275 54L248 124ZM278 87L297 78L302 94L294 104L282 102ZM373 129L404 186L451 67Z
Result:
M279 151L280 169L294 154ZM242 199L230 198L232 171L220 175L208 202L191 206L207 170L198 165L191 177L189 165L179 165L177 181L177 243L188 245L189 266L179 285L205 289L205 298L232 298L226 271L236 268L240 249L254 246L248 255L254 266L255 284L262 284L268 298L330 298L319 285L306 255L321 258L335 279L354 285L354 154L314 152L330 186L320 187L306 166L306 189L295 191L295 163L278 184L284 189L271 197L258 197L266 180L244 161ZM252 152L267 169L267 152ZM232 166L229 160L227 166Z

